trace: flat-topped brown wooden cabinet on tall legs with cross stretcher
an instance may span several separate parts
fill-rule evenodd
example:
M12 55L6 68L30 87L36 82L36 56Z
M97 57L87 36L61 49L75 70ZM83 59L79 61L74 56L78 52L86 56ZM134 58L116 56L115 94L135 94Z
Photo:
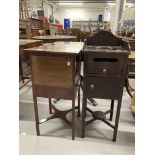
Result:
M67 124L67 113L72 112L72 139L75 138L75 109L80 115L80 98L78 107L75 107L76 94L80 95L77 81L80 80L80 53L83 43L79 42L56 42L46 44L38 48L25 50L31 57L32 90L34 96L34 108L36 118L37 135L40 134L39 124L50 119L60 118ZM54 113L38 121L37 97L49 99L49 108ZM72 108L66 111L57 109L51 102L51 98L69 99ZM51 109L49 112L51 113Z

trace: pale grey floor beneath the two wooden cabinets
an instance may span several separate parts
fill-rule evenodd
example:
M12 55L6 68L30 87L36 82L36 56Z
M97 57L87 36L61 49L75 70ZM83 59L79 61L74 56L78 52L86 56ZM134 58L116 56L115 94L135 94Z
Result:
M130 82L134 87L134 80ZM30 86L20 90L19 100L20 155L134 155L135 122L129 108L130 97L125 89L116 142L111 141L113 130L101 121L87 126L86 137L80 138L81 117L76 118L74 141L71 140L71 128L60 119L50 120L40 125L41 136L36 136ZM96 101L98 103L96 107L88 104L92 110L102 109L104 111L110 107L109 100L96 99ZM60 109L69 109L70 103L71 101L68 100L60 100L55 105ZM48 116L48 100L38 98L38 105L40 119ZM67 117L71 119L71 114ZM90 117L89 113L88 117Z

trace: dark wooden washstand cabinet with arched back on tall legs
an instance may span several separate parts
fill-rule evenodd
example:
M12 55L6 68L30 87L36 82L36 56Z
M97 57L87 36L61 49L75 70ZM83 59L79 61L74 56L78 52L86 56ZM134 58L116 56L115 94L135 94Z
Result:
M82 137L85 136L85 125L101 120L114 129L113 141L116 141L129 50L130 46L126 41L108 31L100 31L85 42ZM87 98L110 99L111 107L106 112L93 112L87 107ZM115 125L101 117L110 113L110 121L112 120L114 100L118 101ZM85 121L86 110L93 116L88 121Z

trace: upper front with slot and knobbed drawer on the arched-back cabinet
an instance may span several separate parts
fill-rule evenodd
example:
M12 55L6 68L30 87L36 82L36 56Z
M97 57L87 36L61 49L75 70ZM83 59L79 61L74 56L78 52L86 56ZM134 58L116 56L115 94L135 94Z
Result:
M87 73L106 76L122 75L126 70L127 61L127 56L123 55L90 53L86 61Z

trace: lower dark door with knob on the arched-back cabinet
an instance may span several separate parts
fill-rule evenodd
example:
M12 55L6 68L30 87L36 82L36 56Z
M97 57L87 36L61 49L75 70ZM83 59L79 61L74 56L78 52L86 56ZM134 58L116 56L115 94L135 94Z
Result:
M87 95L92 98L118 99L123 92L122 78L87 77Z

